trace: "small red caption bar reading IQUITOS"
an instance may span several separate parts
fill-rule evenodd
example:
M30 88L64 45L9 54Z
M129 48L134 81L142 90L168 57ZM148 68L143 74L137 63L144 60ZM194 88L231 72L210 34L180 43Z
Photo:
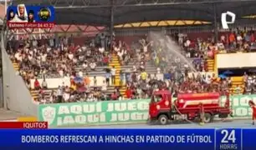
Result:
M48 122L0 122L1 128L48 128Z

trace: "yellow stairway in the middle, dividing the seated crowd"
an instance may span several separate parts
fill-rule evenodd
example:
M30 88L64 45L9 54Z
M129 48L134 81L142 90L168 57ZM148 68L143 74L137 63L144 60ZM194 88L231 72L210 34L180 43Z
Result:
M111 62L109 63L109 67L115 67L115 87L120 86L120 61L116 55L112 55Z

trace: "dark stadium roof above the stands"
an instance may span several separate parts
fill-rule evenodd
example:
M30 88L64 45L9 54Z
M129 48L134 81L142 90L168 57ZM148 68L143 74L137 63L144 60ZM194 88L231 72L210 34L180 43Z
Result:
M254 22L242 17L256 14L255 0L13 0L13 5L19 3L53 5L57 24L96 26L109 26L111 21L119 26L160 20L212 23L227 11L238 19Z

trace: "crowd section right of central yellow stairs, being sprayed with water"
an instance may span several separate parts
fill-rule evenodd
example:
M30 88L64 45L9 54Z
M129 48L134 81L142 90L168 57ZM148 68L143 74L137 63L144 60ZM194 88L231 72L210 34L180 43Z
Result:
M216 53L220 52L251 52L255 46L255 38L253 30L248 31L246 28L242 30L237 29L234 32L221 34L218 42L214 42L214 37L202 39L198 37L192 41L186 34L177 34L177 44L180 47L174 48L179 50L187 60L192 58L191 64L181 60L180 56L173 54L165 43L159 41L150 41L150 38L141 39L139 48L134 48L136 53L136 61L140 62L138 66L134 67L134 73L131 74L131 79L128 80L125 97L127 98L141 98L151 97L151 92L160 88L167 88L172 92L173 96L181 92L220 92L224 94L233 89L233 94L241 94L244 92L254 93L253 83L247 86L238 85L232 88L231 77L219 78L215 74L203 75L197 72L207 72L207 58L212 58ZM172 47L173 47L173 43ZM175 52L174 52L175 53ZM132 55L131 55L132 56ZM145 72L146 62L153 60L156 64L156 73L164 73L164 77L151 77ZM193 69L191 69L193 67ZM139 68L136 70L136 68ZM136 71L139 71L137 73ZM194 71L192 76L189 72ZM195 72L196 71L196 72ZM255 76L253 76L255 77ZM253 77L248 77L248 81L254 81ZM255 80L256 81L256 80ZM243 84L242 84L243 85Z

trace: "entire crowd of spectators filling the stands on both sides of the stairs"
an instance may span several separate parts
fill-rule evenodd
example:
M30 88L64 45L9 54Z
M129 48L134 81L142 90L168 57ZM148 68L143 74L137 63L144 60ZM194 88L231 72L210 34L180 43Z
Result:
M150 36L142 38L134 44L128 45L125 41L105 40L103 35L98 39L90 40L83 45L74 45L72 37L49 37L40 40L18 40L9 42L8 53L13 62L19 65L18 73L23 77L28 88L33 82L39 91L38 102L95 102L100 100L121 100L151 97L155 90L166 88L175 97L181 92L227 92L232 86L231 79L219 78L207 72L206 59L218 52L251 52L255 44L253 31L236 30L221 35L218 42L213 38L189 39L186 34L179 33L173 37L172 46L178 53L170 53L170 47L161 40L152 40ZM172 48L172 47L171 47ZM125 86L125 94L120 93L120 87L110 95L106 94L110 81L115 84L115 67L107 69L103 86L97 84L94 77L90 81L88 72L94 71L98 66L106 66L115 53L121 65L132 64L133 67L120 71L120 85ZM184 61L186 57L187 61ZM151 62L156 66L156 72L146 72L146 64ZM79 67L79 70L75 69ZM163 74L163 76L160 76ZM71 86L59 85L49 95L47 82L41 84L37 78L69 77ZM77 79L77 78L81 79ZM244 75L244 92L256 92L255 76ZM239 90L242 87L237 87ZM242 90L240 90L242 91Z

